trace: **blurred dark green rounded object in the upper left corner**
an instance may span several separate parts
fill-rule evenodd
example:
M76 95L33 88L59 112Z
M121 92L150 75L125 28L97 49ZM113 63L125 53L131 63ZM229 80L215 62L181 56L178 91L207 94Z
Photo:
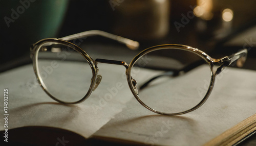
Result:
M34 42L41 38L54 37L65 15L68 1L66 0L21 0L1 1L1 17L9 35L26 42ZM15 16L15 12L17 17ZM14 20L8 24L8 18ZM3 28L2 28L3 27Z

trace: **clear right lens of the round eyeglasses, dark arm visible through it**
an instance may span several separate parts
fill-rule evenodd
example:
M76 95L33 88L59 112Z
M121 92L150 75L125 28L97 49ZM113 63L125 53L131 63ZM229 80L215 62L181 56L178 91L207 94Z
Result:
M197 106L211 81L206 60L181 48L161 48L140 56L130 74L137 98L151 109L168 114Z

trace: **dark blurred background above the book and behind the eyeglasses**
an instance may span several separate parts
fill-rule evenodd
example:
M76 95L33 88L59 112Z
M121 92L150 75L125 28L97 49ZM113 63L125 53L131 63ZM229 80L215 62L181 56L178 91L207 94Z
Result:
M176 43L221 57L247 48L249 57L244 67L256 69L255 5L256 1L250 0L0 1L0 71L31 63L29 47L40 39L88 30L136 40L139 51ZM106 38L96 36L82 42L79 46L87 48L89 55L129 56L125 46ZM127 63L131 59L127 57Z

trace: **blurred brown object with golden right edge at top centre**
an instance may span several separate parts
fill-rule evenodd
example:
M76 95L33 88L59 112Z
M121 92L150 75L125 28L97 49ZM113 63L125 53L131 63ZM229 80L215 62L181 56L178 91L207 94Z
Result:
M115 7L113 32L138 40L162 39L169 31L170 1L123 1Z

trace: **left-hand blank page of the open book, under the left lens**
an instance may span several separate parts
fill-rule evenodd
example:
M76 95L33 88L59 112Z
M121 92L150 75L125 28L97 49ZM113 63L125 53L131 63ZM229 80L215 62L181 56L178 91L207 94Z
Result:
M99 63L98 68L102 75L98 88L83 103L69 106L52 100L42 90L32 64L3 72L0 75L0 112L4 113L4 89L8 88L8 129L47 126L70 130L86 138L91 136L121 112L133 97L127 85L125 67ZM4 123L4 118L0 118L0 123ZM1 131L4 129L0 127Z

